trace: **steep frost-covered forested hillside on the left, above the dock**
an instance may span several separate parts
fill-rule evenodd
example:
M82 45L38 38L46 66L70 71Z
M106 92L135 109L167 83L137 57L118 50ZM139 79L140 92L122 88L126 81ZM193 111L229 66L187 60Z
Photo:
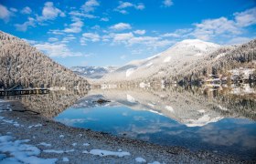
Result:
M0 31L0 88L87 87L89 84L37 48Z

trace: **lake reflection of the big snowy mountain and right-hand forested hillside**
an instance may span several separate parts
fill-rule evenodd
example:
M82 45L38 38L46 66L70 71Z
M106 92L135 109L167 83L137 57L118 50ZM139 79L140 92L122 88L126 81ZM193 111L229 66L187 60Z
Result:
M201 89L201 88L200 88ZM89 95L102 95L116 105L135 110L148 110L175 119L187 127L204 126L226 117L255 118L256 101L233 96L205 97L199 88L187 91L170 88L165 91L91 90ZM238 99L236 99L238 98ZM82 100L81 100L82 102ZM114 106L112 103L110 105Z

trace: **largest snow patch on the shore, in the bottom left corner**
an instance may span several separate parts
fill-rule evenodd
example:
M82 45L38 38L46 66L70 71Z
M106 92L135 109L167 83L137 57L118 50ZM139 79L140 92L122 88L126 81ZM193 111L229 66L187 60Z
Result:
M11 136L0 136L0 152L7 153L1 156L1 163L55 163L58 159L41 159L37 158L40 154L40 149L37 147L25 144L29 139L15 140Z

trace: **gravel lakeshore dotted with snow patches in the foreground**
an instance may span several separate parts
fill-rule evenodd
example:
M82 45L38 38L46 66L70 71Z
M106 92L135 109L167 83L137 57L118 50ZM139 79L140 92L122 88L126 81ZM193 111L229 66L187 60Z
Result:
M18 112L24 109L18 101L0 101L0 163L240 163L205 151L70 128L30 112Z

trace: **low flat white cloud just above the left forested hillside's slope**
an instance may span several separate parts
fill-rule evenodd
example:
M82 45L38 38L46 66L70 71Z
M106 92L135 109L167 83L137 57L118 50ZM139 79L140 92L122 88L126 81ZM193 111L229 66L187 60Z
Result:
M82 56L80 52L73 52L66 44L62 43L41 43L34 46L52 57Z

